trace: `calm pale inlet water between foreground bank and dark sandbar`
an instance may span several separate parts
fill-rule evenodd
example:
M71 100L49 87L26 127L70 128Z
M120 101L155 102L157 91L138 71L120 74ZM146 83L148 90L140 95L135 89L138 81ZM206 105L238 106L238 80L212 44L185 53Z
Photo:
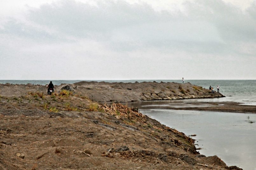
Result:
M256 170L256 114L143 109L143 114L186 135L196 134L200 154L217 155L228 166ZM248 117L249 116L249 117ZM248 119L249 118L249 119Z

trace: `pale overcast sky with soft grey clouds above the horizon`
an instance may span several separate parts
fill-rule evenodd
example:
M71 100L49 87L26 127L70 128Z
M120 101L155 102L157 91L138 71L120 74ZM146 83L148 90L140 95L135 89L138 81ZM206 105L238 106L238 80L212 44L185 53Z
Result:
M0 0L0 79L256 79L256 0Z

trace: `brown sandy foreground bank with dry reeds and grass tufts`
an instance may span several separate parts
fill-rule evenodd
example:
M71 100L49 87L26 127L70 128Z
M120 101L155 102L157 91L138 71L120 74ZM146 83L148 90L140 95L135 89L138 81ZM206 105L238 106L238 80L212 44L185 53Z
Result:
M9 86L17 96L0 89L1 170L239 169L200 155L190 137L136 109L17 87Z

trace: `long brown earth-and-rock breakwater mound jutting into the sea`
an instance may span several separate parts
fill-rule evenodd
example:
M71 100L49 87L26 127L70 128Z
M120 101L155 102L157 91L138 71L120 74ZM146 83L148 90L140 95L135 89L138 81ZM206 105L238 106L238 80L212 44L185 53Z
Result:
M60 85L59 87L61 88ZM107 82L78 82L70 85L75 93L87 96L97 102L135 102L149 100L170 100L187 98L216 98L225 97L221 93L211 93L209 89L190 83L107 83Z

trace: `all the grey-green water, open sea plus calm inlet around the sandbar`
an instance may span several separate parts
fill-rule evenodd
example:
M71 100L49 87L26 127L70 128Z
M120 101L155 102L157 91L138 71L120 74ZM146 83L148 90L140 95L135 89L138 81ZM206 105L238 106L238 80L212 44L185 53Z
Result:
M182 80L0 80L0 84L34 84L54 85L80 81L105 82L176 82ZM188 102L239 102L245 105L256 105L256 80L185 80L184 83L202 86L209 89L213 86L225 98L184 99L179 100L183 107ZM1 89L0 89L1 90ZM205 156L217 155L228 166L237 166L244 170L256 170L256 114L230 113L217 111L172 110L172 100L138 104L141 113L150 116L160 123L177 129L186 135L196 135L196 147ZM164 109L162 106L165 106Z

